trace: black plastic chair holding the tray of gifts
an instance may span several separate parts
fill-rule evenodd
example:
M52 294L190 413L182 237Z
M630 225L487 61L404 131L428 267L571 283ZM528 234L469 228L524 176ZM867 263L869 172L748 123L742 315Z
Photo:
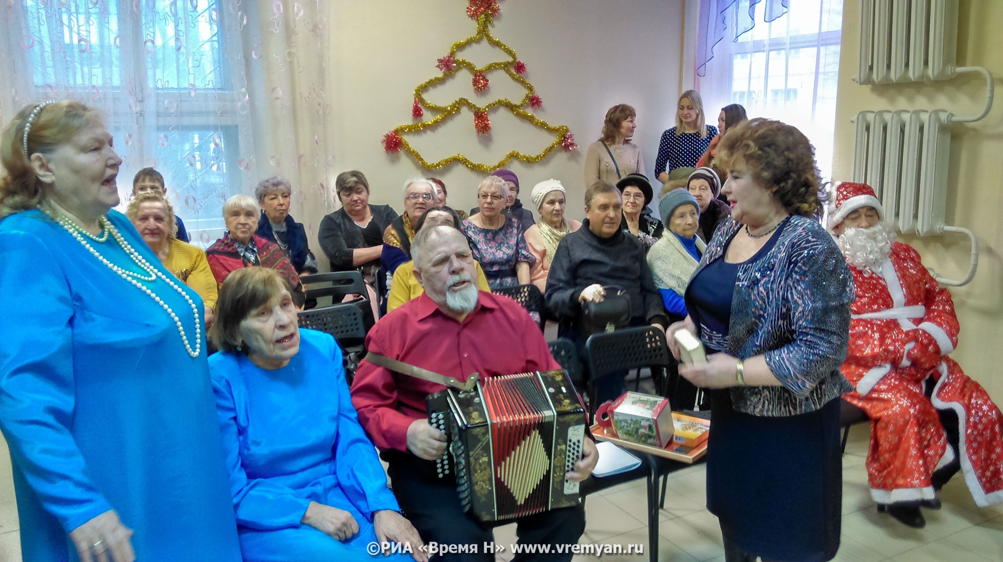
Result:
M610 373L627 371L629 369L651 368L652 378L658 381L656 389L664 395L665 369L672 366L672 355L665 343L665 333L661 330L643 326L628 328L606 334L594 334L585 343L585 362L591 377L588 387L590 395L590 414L595 415L595 389L592 381ZM661 375L656 378L656 371ZM642 460L640 467L616 476L607 478L590 477L583 483L584 494L593 494L625 482L646 478L648 481L648 552L651 561L658 560L658 511L665 506L665 491L668 485L667 475L688 466L686 463L665 459L657 455L631 451ZM658 481L662 480L661 498L659 498ZM594 481L594 482L590 482Z

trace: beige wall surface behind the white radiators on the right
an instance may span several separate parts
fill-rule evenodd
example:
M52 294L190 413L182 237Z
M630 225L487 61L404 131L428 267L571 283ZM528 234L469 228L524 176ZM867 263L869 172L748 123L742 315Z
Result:
M835 116L833 177L849 180L854 171L855 125L858 112L881 109L947 109L959 115L978 113L985 100L985 79L964 75L932 84L861 86L857 73L860 52L859 1L844 8ZM997 91L1003 77L1003 2L960 0L958 66L984 66L993 73ZM961 337L952 358L981 383L997 403L1003 403L1003 99L989 116L971 124L953 125L948 175L947 223L973 230L979 238L979 269L971 284L952 288ZM903 236L923 255L924 263L953 278L968 271L969 242L963 234L917 238Z

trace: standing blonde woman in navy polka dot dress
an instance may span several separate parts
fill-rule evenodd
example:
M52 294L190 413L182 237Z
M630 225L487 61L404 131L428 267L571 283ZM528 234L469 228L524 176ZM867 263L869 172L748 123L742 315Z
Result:
M703 99L696 90L679 96L676 105L676 126L662 133L655 158L655 174L665 183L669 172L681 167L696 167L696 161L717 135L717 127L704 123Z

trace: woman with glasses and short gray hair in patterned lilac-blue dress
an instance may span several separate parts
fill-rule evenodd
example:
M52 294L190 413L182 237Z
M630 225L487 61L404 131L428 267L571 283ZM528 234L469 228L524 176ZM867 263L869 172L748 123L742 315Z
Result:
M530 265L537 258L520 231L519 222L505 214L509 185L496 175L488 175L477 186L477 209L463 221L473 258L480 263L491 291L530 283Z

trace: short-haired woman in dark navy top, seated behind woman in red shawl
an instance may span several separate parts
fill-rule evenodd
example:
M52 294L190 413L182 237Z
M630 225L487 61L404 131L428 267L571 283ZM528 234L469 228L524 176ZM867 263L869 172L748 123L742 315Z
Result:
M307 243L307 230L302 222L289 215L292 193L293 185L284 177L272 176L258 183L254 194L262 216L258 219L257 233L279 244L297 273L316 273L317 262Z

